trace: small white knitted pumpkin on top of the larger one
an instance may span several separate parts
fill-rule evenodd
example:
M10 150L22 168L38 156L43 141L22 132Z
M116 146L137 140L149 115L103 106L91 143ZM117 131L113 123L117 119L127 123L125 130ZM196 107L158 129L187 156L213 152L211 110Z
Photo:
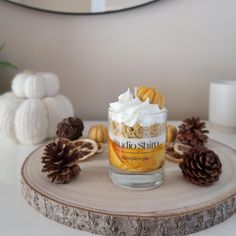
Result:
M60 89L57 76L48 72L23 71L15 76L12 90L22 98L44 98L55 96Z

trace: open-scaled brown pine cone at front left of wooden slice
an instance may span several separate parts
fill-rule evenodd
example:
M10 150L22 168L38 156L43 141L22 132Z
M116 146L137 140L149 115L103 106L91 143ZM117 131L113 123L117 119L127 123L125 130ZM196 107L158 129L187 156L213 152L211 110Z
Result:
M50 182L66 184L77 176L80 167L77 164L79 153L69 140L57 138L46 145L41 159L42 172L47 173Z

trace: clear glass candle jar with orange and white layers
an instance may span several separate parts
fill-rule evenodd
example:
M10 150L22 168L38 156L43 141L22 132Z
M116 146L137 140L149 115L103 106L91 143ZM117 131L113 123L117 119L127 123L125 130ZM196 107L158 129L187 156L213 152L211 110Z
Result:
M112 182L137 190L161 185L164 182L167 110L135 114L135 117L111 110L108 113ZM127 120L129 122L125 122Z

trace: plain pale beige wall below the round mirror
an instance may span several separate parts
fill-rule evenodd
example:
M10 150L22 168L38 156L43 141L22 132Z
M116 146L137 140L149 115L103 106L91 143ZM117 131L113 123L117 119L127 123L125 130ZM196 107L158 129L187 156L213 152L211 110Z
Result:
M20 68L57 73L82 118L105 119L108 103L139 84L165 93L171 119L207 118L209 82L236 79L235 9L234 0L162 0L68 16L1 1L0 41Z

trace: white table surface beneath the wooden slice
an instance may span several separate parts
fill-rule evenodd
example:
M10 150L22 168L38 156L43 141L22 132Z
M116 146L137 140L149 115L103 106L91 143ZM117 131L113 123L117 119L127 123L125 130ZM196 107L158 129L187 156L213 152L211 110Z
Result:
M85 122L85 132L93 123ZM177 125L177 122L168 122ZM210 138L236 149L236 133L219 132L212 128ZM30 207L20 193L20 168L27 155L37 146L20 145L0 137L0 236L85 236L87 232L69 228L47 219ZM236 235L236 214L225 222L194 236L233 236Z

